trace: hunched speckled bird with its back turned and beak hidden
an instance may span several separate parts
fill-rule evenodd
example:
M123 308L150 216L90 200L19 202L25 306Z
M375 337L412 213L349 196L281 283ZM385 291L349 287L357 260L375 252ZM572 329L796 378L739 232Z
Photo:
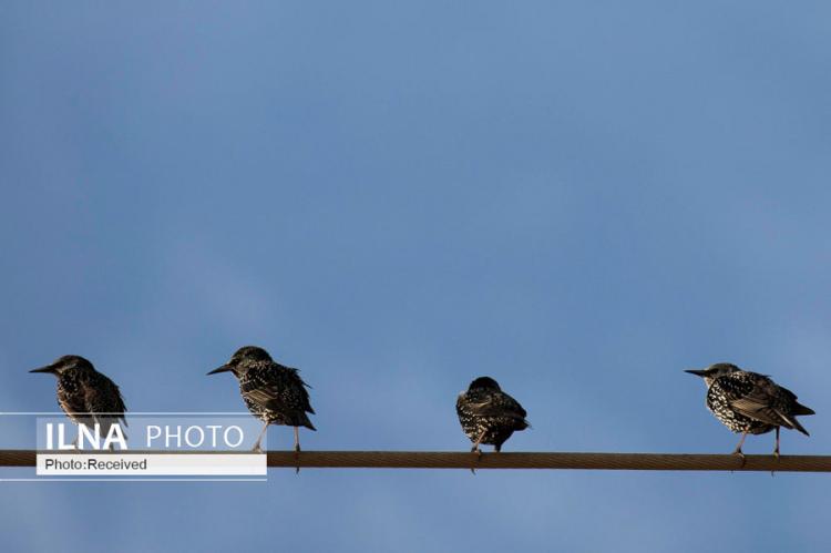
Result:
M480 454L480 444L492 444L500 451L511 434L530 426L525 409L490 377L479 377L468 391L459 395L455 412L462 430L473 442L471 451Z

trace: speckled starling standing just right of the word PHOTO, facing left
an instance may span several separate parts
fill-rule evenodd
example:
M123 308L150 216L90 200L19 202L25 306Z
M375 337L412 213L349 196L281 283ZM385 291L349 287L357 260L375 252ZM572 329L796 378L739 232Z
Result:
M208 375L226 371L237 377L239 393L248 410L265 422L253 451L263 451L259 444L268 424L295 427L295 451L300 451L298 427L317 429L306 414L315 410L309 404L308 385L302 381L298 370L274 361L263 348L246 346L239 348L227 363Z

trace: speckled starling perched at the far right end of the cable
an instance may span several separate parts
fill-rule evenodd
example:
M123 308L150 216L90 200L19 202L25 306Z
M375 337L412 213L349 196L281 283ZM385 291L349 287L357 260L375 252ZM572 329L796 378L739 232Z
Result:
M779 458L779 429L799 430L809 436L797 416L814 414L797 396L767 375L742 370L729 362L710 365L706 369L685 372L701 377L707 385L707 409L731 431L741 433L733 454L745 459L741 446L747 434L763 434L776 430L773 455Z

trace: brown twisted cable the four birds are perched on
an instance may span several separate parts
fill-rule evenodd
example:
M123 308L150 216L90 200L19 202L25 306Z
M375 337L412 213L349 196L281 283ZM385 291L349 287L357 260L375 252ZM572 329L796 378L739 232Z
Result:
M746 455L742 464L737 455L690 453L483 453L480 458L474 453L447 451L302 451L298 458L294 451L267 454L270 468L831 472L831 455L782 455L778 460L773 455ZM0 467L34 467L35 455L32 450L0 450Z

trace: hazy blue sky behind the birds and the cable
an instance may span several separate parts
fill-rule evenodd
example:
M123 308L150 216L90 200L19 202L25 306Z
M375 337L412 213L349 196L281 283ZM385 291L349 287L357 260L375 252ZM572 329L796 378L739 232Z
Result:
M72 352L133 411L244 412L204 375L256 344L314 387L310 450L465 450L455 396L489 375L533 423L506 451L727 452L681 371L730 360L817 411L786 454L827 453L829 21L825 2L3 2L0 410L55 409L27 370ZM3 484L0 532L10 551L819 551L829 493L271 471Z

